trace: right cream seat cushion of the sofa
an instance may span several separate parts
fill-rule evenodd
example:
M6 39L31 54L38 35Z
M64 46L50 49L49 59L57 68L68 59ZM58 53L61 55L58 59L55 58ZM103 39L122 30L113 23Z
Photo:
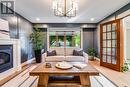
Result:
M66 61L68 62L84 62L83 56L66 56Z

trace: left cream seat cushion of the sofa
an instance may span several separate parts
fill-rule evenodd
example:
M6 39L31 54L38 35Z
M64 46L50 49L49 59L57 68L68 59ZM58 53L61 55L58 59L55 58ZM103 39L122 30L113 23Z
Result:
M64 61L65 57L64 56L47 56L45 60L46 62L60 62L60 61Z

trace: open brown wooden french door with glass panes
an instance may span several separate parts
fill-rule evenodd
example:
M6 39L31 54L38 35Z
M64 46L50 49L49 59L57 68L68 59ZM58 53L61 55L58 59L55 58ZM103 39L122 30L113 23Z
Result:
M100 65L121 71L123 66L123 32L121 21L110 21L101 24L100 27Z

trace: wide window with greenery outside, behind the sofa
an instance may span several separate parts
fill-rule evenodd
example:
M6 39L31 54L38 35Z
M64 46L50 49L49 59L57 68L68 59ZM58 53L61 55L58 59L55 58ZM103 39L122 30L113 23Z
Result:
M80 47L80 31L50 32L50 47Z

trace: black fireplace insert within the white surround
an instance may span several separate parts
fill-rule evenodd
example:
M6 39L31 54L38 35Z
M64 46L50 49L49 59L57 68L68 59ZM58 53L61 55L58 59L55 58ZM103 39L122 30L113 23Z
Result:
M0 73L13 68L13 45L0 45Z

